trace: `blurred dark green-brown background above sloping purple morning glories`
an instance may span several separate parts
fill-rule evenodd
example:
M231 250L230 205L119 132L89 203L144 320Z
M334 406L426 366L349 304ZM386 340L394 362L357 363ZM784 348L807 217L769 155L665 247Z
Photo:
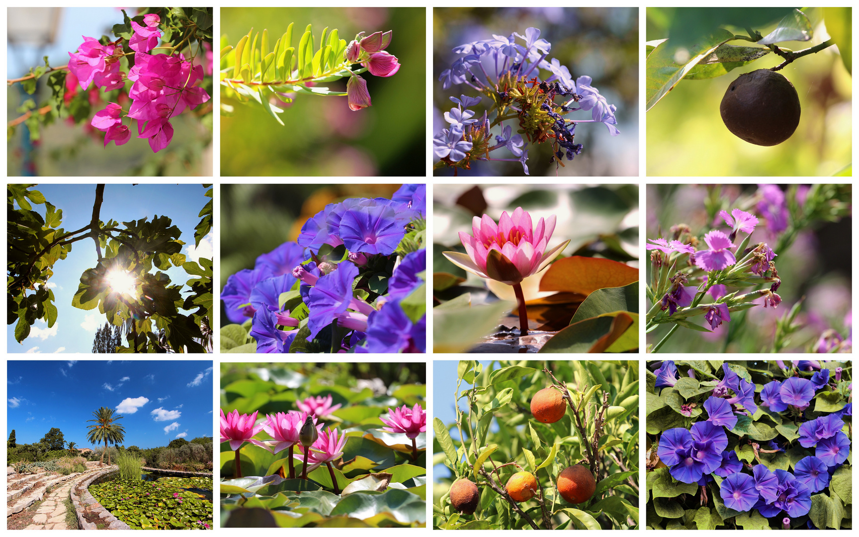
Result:
M312 97L313 95L308 95ZM271 119L271 118L269 118ZM277 125L280 126L280 125ZM257 257L295 241L326 204L345 198L390 198L391 185L221 185L221 282L252 269ZM226 316L222 312L222 319Z

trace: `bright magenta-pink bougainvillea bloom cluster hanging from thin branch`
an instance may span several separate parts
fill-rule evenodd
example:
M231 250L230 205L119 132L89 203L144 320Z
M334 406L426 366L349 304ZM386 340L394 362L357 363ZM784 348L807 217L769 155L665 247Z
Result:
M131 139L129 126L131 119L136 119L137 137L146 138L157 153L173 140L170 119L186 108L193 109L209 101L210 95L198 86L204 69L203 65L193 64L194 58L185 58L179 51L149 54L161 39L161 17L144 15L143 22L141 25L131 21L134 33L129 46L134 51L134 66L127 73L120 68L119 60L125 54L119 40L102 45L86 36L77 52L69 52L69 70L82 90L94 83L109 92L124 88L126 80L133 82L128 91L131 107L126 111L118 103L110 102L95 113L91 125L105 133L105 147L111 141L123 145ZM123 125L124 118L129 119L129 125Z

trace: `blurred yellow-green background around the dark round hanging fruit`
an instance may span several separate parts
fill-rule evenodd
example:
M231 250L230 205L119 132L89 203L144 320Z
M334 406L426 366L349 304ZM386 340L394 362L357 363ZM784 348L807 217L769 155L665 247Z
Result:
M829 38L820 9L804 12L812 22L813 39L778 46L798 51ZM671 9L648 8L646 40L669 37L668 28L677 16L678 12ZM766 35L777 22L778 17L753 29ZM741 27L722 26L746 35ZM731 44L753 46L748 41ZM728 85L742 73L769 69L782 61L771 53L725 76L680 81L647 112L647 174L832 175L850 165L853 83L836 46L799 58L778 71L793 83L802 107L800 125L786 142L758 146L725 127L719 104Z

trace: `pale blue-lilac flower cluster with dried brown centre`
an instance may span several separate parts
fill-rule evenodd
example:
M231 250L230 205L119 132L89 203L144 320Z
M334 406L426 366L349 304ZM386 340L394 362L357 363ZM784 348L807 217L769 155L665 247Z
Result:
M434 153L441 159L436 168L446 165L455 171L470 169L475 161L509 161L521 162L528 174L527 143L522 135L531 143L551 143L552 161L563 165L564 156L572 161L582 153L582 144L575 142L577 124L602 123L612 136L620 133L615 126L617 107L609 105L591 85L590 76L579 76L574 81L570 70L557 58L547 59L551 43L539 35L538 28L528 27L525 35L493 34L491 40L454 47L453 52L460 58L442 71L442 88L465 84L480 95L450 97L456 106L444 113L449 126L433 141ZM524 40L525 45L517 39ZM541 80L540 70L550 74ZM490 105L478 115L470 108L481 102ZM592 119L564 119L578 110L591 112ZM490 113L495 113L494 119L490 120ZM518 123L514 127L518 133L513 134L511 125L504 125L507 120ZM496 135L493 141L490 131L496 125L501 125L502 135ZM501 149L515 158L490 156L491 151Z

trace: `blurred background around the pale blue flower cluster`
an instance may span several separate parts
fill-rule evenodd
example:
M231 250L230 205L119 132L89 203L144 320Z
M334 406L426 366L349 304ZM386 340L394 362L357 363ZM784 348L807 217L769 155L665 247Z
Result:
M638 8L435 8L433 10L433 136L448 127L444 113L454 103L449 97L460 94L478 95L466 84L442 90L438 77L450 68L460 55L451 49L477 40L490 40L492 34L524 35L527 27L540 30L540 38L551 43L547 60L557 58L576 79L593 77L594 88L617 105L618 130L612 137L606 125L582 125L576 129L576 143L584 144L582 155L557 168L558 175L638 175ZM521 40L517 40L521 44ZM535 73L536 74L536 73ZM539 70L541 79L551 75ZM486 101L473 107L477 116ZM589 112L570 113L567 119L592 119ZM508 122L509 123L509 122ZM502 129L495 127L493 134ZM530 175L555 175L556 164L549 162L549 143L528 143ZM497 153L505 153L498 150ZM493 156L495 153L493 153ZM433 156L434 161L438 159ZM513 158L498 155L498 158ZM480 162L471 170L458 170L459 175L522 175L519 162ZM452 168L442 168L436 175L453 175Z

